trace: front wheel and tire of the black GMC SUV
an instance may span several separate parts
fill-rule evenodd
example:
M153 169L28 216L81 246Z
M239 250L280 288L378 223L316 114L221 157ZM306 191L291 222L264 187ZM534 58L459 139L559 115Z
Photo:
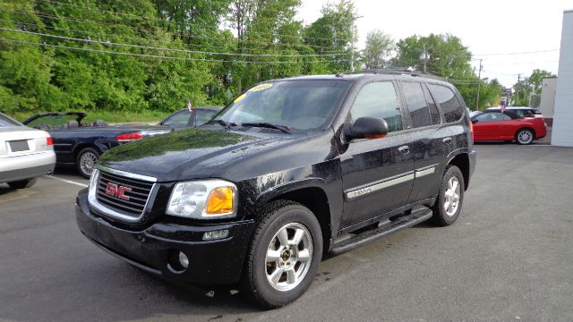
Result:
M312 284L322 258L321 225L308 208L292 201L274 201L261 215L241 284L250 300L276 309L301 297Z

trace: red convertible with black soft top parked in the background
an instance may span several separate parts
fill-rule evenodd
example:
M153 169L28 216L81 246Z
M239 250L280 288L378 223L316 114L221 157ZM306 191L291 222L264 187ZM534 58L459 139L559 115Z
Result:
M474 141L516 140L519 144L530 144L547 135L547 124L543 117L522 117L515 111L488 109L472 115Z

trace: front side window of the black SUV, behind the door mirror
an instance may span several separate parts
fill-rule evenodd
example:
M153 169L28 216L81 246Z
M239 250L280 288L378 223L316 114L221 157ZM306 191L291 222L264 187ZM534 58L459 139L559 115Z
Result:
M402 130L402 115L394 84L390 81L373 82L361 89L352 106L353 120L361 117L384 119L388 131Z

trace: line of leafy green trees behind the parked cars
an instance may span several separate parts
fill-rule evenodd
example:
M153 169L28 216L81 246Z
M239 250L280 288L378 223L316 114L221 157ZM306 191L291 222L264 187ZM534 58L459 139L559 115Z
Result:
M368 33L355 5L297 20L300 0L0 0L0 110L173 111L225 105L263 80L412 66L454 83L466 105L494 104L497 80L480 80L450 35L395 41ZM353 37L355 37L353 39Z

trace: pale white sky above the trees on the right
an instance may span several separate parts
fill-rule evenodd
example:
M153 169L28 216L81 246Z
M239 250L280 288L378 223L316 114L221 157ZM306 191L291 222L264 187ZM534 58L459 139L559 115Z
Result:
M338 0L336 0L338 2ZM329 0L303 0L298 18L309 24L321 16ZM483 59L482 76L511 87L534 69L557 74L563 11L573 0L354 0L357 48L366 33L379 29L395 40L412 35L450 33L462 40L475 59ZM543 53L506 55L545 51ZM503 55L490 55L503 54ZM472 62L475 70L479 61Z

